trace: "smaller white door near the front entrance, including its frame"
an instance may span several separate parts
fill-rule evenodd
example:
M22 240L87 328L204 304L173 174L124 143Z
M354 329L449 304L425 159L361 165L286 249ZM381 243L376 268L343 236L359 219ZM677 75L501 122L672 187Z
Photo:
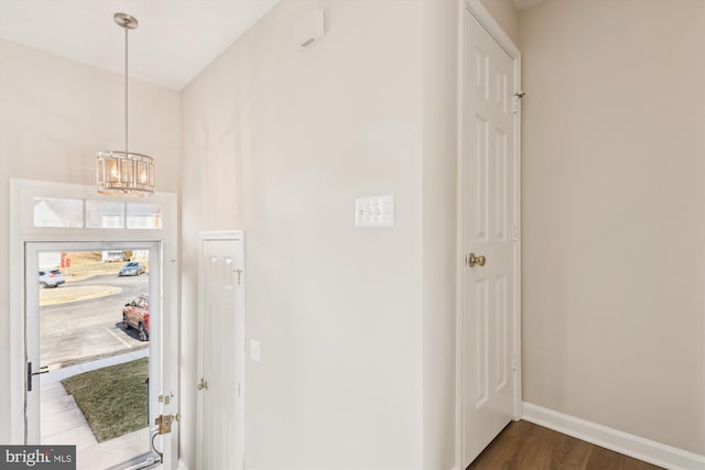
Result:
M200 233L196 459L200 469L245 462L245 241Z

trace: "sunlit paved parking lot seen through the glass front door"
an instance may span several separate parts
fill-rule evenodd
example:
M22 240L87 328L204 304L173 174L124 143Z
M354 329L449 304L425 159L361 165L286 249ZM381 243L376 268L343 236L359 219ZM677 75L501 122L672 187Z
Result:
M41 364L54 370L147 348L135 330L122 328L122 307L148 291L148 275L112 273L40 289Z

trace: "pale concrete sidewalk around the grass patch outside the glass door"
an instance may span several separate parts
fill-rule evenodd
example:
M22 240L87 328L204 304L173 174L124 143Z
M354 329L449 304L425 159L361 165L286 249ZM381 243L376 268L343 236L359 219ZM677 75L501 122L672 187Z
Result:
M70 365L41 375L42 444L76 445L77 470L107 469L150 450L149 428L135 430L116 439L98 442L88 422L76 405L73 396L66 394L61 381L82 372L102 369L149 356L149 349L128 352Z

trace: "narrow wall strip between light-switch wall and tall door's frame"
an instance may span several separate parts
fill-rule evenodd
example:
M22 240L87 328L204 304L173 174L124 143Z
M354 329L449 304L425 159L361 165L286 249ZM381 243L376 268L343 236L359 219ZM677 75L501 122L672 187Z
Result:
M458 2L422 0L423 468L455 460Z

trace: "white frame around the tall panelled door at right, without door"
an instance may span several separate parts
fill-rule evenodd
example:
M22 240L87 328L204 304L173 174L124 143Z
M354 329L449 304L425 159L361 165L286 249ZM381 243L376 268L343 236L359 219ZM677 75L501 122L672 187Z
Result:
M457 154L457 187L458 187L458 199L457 199L457 215L456 219L462 220L462 215L464 214L465 201L460 197L460 185L463 184L462 175L463 175L463 151L464 151L464 138L463 138L463 106L464 97L466 94L466 86L464 76L464 66L463 61L465 56L465 42L464 42L464 23L465 23L465 12L468 11L477 21L487 30L487 32L497 41L499 46L511 57L513 62L513 80L514 80L514 90L513 92L519 92L521 90L521 53L519 48L514 45L511 39L505 33L501 26L495 21L495 19L489 14L489 12L485 9L485 7L480 3L480 0L458 0L458 100L459 103L457 109L457 138L458 138L458 154ZM514 227L518 227L518 233L516 233L518 242L514 244L514 305L512 306L512 318L514 323L514 332L513 332L513 353L514 353L514 364L516 376L514 376L514 390L513 390L513 402L514 402L514 419L521 418L522 415L522 402L521 402L521 100L517 100L519 112L514 113L514 154L513 156L513 165L514 165L514 194L516 194L516 211L514 211ZM457 225L458 237L457 237L457 247L456 247L456 316L455 316L455 325L456 325L456 337L455 337L455 468L464 469L465 462L463 462L463 442L464 442L464 429L463 429L463 345L462 345L462 336L463 336L463 270L464 265L464 256L465 256L465 247L463 244L463 238L460 237L463 228L460 223Z

